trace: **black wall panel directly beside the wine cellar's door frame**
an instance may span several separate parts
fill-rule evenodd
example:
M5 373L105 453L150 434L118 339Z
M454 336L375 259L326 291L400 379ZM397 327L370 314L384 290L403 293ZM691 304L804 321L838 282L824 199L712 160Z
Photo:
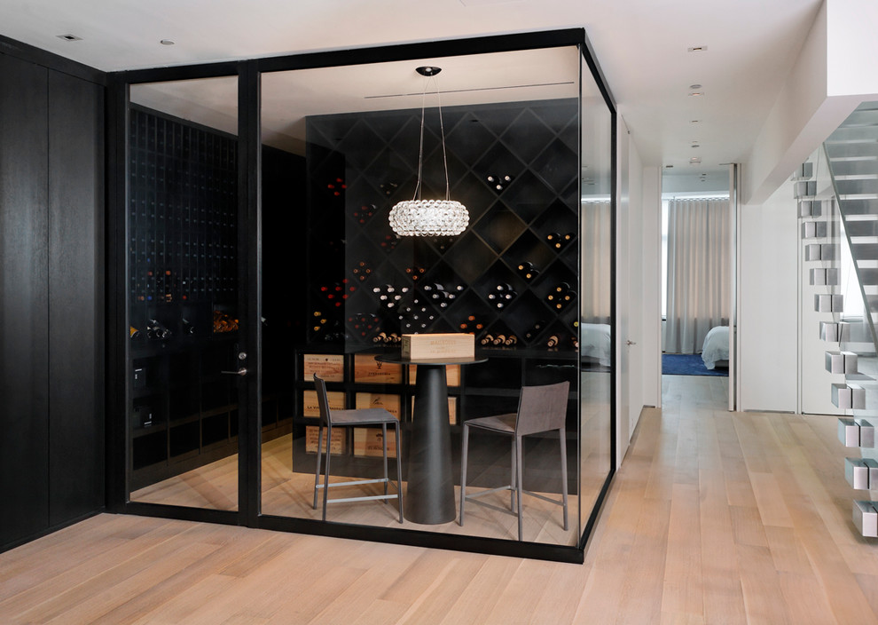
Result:
M103 89L49 74L49 524L104 503Z

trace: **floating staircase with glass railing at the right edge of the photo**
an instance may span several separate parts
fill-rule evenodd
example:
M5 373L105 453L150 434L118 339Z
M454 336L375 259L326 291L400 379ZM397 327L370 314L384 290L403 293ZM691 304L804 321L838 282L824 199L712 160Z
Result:
M869 497L853 502L853 523L863 536L878 537L878 502L872 501L878 494L878 102L860 105L827 138L822 155L826 168L817 168L815 182L821 186L821 171L828 176L837 213L836 290L851 304L832 322L839 353L855 359L855 368L844 370L844 383L833 384L833 403L850 410L839 419L839 439L859 448L858 457L844 461L845 478Z

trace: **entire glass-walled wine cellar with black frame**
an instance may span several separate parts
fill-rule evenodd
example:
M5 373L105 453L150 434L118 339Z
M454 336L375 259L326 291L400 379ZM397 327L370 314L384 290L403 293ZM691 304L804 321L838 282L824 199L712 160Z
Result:
M615 116L590 63L561 31L120 75L121 509L581 561L615 464ZM461 233L391 226L449 197ZM400 360L410 335L474 355ZM330 411L395 427L328 436L315 375ZM524 428L522 389L559 385L561 430L516 451L476 427ZM440 487L422 445L451 516L412 513Z

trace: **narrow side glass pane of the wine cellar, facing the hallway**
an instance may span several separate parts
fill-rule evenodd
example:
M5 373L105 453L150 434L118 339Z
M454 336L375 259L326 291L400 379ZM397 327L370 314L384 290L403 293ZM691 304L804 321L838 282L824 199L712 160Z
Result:
M581 505L591 514L612 471L613 116L583 63L580 213Z

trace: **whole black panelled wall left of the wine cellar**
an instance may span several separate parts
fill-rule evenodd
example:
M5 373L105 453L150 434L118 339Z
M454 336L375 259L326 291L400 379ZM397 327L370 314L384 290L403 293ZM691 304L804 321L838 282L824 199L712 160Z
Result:
M0 550L104 503L103 87L0 54Z

